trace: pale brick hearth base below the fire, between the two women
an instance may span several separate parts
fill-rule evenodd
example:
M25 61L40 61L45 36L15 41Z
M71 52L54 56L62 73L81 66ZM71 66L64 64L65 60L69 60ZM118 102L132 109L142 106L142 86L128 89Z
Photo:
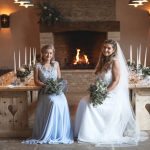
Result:
M95 79L94 70L62 70L62 78L68 82L66 97L69 104L72 122L77 105L82 97L88 94L88 88Z

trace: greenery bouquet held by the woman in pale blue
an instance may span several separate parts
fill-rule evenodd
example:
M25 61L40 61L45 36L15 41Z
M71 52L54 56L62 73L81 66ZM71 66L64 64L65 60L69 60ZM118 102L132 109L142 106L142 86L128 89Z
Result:
M63 79L54 80L49 78L45 82L46 86L44 88L45 94L60 94L66 90L66 81Z

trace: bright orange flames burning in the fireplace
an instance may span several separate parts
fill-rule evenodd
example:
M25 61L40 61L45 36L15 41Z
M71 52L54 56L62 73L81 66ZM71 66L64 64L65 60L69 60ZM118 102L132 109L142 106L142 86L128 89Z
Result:
M89 64L89 59L87 55L80 55L80 49L77 49L76 59L73 64Z

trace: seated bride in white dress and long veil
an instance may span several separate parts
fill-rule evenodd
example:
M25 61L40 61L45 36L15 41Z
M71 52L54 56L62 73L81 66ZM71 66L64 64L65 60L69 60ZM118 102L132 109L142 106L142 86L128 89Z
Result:
M96 77L108 85L108 97L94 107L90 97L78 105L74 136L78 142L103 144L137 144L140 131L135 121L128 91L128 69L119 44L106 40L103 44Z

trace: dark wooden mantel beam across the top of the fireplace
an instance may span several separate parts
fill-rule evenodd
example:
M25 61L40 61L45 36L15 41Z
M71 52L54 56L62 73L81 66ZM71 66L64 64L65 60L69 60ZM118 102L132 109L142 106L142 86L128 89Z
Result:
M54 25L40 25L40 32L67 32L67 31L120 31L120 21L81 21L59 22Z

